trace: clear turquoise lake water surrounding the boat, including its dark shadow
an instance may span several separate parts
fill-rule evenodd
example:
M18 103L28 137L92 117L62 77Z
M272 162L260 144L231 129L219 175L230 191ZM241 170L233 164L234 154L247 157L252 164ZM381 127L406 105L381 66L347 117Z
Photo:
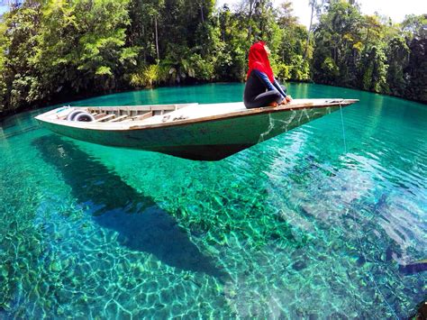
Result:
M239 101L241 84L73 105ZM427 297L427 105L358 105L218 162L0 131L0 318L396 318ZM44 110L45 111L45 110Z

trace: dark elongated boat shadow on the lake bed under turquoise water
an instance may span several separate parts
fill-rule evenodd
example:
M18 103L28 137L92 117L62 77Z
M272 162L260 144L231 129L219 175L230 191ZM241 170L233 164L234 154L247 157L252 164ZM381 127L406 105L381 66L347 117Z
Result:
M225 276L152 198L135 191L75 143L51 134L32 144L45 162L59 169L77 202L88 207L95 222L120 234L121 244L135 251L152 253L160 261L181 270Z

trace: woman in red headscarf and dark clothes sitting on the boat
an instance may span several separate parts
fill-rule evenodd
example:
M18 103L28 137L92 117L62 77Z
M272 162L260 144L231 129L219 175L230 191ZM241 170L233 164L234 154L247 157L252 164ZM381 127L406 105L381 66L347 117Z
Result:
M269 53L263 41L255 42L250 47L249 71L243 95L244 104L248 109L286 105L292 101L292 98L286 95L286 88L281 87L274 78L268 61Z

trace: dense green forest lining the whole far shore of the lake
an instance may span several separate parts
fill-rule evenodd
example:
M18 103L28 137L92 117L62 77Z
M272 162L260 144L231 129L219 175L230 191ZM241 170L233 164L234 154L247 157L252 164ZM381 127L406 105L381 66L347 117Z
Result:
M0 114L132 88L243 81L250 44L268 43L281 80L427 101L427 14L393 23L357 1L27 0L0 21Z

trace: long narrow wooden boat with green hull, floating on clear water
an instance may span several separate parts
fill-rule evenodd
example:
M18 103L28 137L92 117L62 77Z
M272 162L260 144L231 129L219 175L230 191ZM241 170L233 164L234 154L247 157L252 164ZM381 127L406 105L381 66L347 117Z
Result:
M157 151L191 160L222 160L277 134L359 100L295 99L246 109L243 103L60 107L35 118L68 137L115 147ZM70 121L86 113L91 122ZM67 120L68 119L68 120Z

